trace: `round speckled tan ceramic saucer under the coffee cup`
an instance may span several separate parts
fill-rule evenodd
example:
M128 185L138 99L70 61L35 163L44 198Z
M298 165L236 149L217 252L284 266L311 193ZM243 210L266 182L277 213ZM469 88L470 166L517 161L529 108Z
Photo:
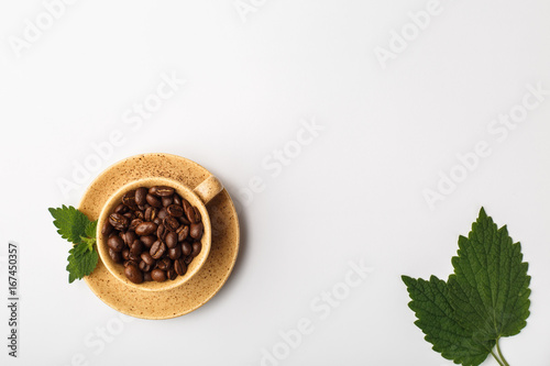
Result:
M129 157L101 173L85 192L79 210L97 220L108 198L129 181L142 177L167 177L196 187L211 174L191 160L169 154ZM89 288L105 303L124 314L143 319L169 319L196 310L226 284L239 252L239 220L227 190L207 206L212 224L212 244L207 263L191 279L166 291L152 292L128 287L114 278L99 259Z

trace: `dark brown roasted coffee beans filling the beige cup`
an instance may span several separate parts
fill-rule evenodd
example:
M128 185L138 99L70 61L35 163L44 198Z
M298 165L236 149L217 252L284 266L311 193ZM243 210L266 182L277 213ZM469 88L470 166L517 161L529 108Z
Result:
M127 192L106 220L109 256L134 284L174 280L187 271L202 245L199 210L174 188L140 187Z

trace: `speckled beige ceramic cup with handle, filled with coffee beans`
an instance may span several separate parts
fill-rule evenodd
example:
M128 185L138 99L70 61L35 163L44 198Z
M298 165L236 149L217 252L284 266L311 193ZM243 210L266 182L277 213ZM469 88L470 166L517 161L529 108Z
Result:
M109 246L107 245L108 237L101 233L101 230L103 228L103 224L106 223L106 220L109 220L109 215L113 212L114 208L121 202L122 196L125 192L138 189L140 187L151 188L154 186L167 186L174 188L176 193L185 198L187 201L189 201L190 204L193 204L198 209L202 218L201 219L202 224L205 226L204 234L200 240L202 244L202 249L188 265L187 271L185 273L184 276L178 276L174 280L166 279L164 282L144 281L141 284L134 284L130 281L124 275L124 266L122 264L114 263L110 257ZM212 240L211 236L212 231L210 224L210 217L208 215L208 210L206 208L206 204L212 198L215 198L216 195L218 195L222 189L223 186L215 176L208 177L195 188L187 187L186 185L183 185L177 180L169 178L162 178L162 177L142 178L121 187L108 199L98 219L97 246L99 256L103 262L105 266L107 267L107 269L118 280L122 281L123 284L145 291L164 291L180 286L182 284L185 284L189 278L191 278L199 271L200 267L205 264L205 262L208 258Z

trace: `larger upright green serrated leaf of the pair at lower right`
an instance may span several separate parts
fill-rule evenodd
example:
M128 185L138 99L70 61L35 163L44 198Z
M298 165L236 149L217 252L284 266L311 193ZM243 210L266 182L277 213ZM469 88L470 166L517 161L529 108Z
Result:
M527 324L531 291L522 258L520 244L484 209L468 237L460 237L450 295L461 323L480 340L516 335Z

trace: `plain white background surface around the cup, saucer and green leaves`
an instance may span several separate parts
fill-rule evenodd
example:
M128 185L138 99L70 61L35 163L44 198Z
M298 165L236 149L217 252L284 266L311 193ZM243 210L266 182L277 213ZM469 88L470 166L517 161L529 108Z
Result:
M504 353L510 365L548 366L550 96L503 141L487 129L521 106L526 85L550 89L550 3L441 0L385 68L375 48L389 49L391 32L427 1L254 3L240 14L233 0L76 1L18 57L14 37L46 10L2 1L0 290L7 298L13 240L21 339L13 361L2 306L1 363L260 365L262 350L307 318L314 332L277 364L451 365L414 325L400 275L447 278L483 206L521 242L532 276L528 326L502 342ZM173 73L185 86L140 126L125 123ZM274 177L262 160L311 120L323 130ZM116 130L123 144L64 195L58 182L74 181ZM480 141L491 155L431 210L422 191ZM84 282L67 284L68 244L47 208L77 206L102 169L147 152L188 157L222 179L242 209L242 252L204 308L124 323L89 346L118 313ZM249 201L239 192L255 176L265 188ZM311 301L344 280L350 260L373 271L320 319Z

